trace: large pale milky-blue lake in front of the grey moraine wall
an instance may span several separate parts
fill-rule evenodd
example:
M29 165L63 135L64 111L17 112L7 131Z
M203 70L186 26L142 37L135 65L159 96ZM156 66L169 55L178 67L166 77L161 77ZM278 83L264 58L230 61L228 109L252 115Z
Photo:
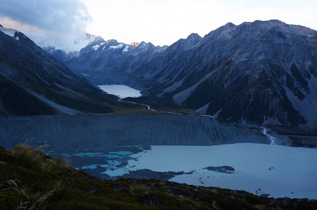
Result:
M271 197L317 199L315 148L256 143L122 146L63 155L76 169L108 179L131 174L148 178L142 174L148 173L142 171L146 169L161 174L175 172L166 180L178 183L245 190ZM230 168L233 171L227 171Z

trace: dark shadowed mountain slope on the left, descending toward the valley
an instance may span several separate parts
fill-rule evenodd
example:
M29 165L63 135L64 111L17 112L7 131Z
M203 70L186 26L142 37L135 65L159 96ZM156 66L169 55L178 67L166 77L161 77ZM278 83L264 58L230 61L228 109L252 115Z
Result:
M0 26L0 114L108 113L104 94L14 29Z

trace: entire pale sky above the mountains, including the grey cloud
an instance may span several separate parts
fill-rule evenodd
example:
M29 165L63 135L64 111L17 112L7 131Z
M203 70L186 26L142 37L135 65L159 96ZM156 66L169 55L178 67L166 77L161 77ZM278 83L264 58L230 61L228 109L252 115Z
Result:
M105 40L170 45L232 22L279 19L317 30L316 0L0 0L0 24L40 46L68 49L85 31Z

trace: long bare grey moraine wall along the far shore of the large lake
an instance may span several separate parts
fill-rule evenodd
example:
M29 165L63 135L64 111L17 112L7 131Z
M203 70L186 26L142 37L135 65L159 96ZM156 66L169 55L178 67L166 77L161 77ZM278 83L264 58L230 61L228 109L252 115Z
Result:
M217 145L269 143L259 131L220 124L206 116L107 115L0 118L0 145L12 147L33 138L50 149L68 151L122 145Z

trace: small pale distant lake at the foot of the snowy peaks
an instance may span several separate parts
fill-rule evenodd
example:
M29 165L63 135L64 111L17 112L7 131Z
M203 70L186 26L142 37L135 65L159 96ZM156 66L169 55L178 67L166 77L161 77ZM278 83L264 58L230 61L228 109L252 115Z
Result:
M140 90L133 89L127 85L99 85L98 87L109 94L120 97L121 99L126 97L139 97L142 95Z

